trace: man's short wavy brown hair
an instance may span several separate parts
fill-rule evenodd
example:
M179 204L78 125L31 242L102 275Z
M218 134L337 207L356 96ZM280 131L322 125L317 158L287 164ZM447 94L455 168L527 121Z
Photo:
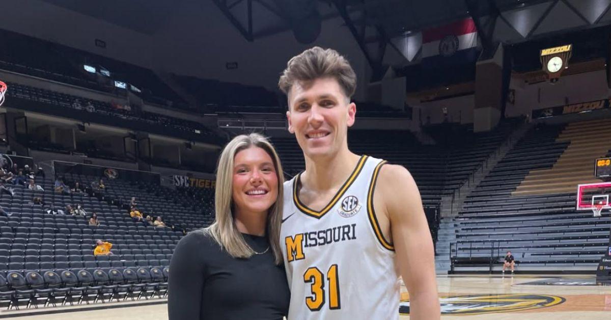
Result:
M356 73L346 58L333 49L313 47L294 56L287 62L278 86L286 95L298 81L312 81L333 77L340 84L343 93L350 98L356 91Z

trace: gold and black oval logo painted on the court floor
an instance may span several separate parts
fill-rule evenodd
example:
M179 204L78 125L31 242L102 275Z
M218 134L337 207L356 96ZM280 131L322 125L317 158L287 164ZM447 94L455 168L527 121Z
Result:
M489 294L442 297L441 314L485 314L552 307L566 299L546 294ZM409 314L409 300L399 304L400 314Z

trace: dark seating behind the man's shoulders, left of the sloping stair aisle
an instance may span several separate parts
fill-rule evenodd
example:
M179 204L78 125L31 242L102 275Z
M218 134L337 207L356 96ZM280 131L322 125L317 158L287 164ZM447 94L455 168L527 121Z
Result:
M409 132L351 130L348 145L356 154L383 158L408 168L418 184L423 204L438 206L441 197L452 195L461 187L519 123L519 119L508 119L485 133L473 133L465 125L439 125L434 135L439 144L435 146L420 144ZM273 143L287 176L295 176L305 168L295 138L274 138Z

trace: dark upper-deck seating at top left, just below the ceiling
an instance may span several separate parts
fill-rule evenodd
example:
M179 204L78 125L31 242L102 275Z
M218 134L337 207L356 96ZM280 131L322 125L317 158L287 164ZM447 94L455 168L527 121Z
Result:
M152 70L70 48L58 43L0 30L0 68L99 91L119 92L114 80L136 86L145 100L162 105L185 102ZM84 70L84 64L110 72L106 77Z

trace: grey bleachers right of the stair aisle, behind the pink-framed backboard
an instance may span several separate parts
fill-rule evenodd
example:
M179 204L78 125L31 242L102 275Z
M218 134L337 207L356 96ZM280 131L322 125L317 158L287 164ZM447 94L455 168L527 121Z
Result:
M533 127L467 196L458 217L442 219L437 270L449 269L449 256L455 259L456 270L488 270L480 258L491 257L499 268L497 259L507 250L519 261L518 270L596 267L607 248L611 224L592 217L591 212L576 211L576 185L566 191L541 185L545 190L541 193L546 194L515 192L529 172L554 167L569 147L569 141L557 137L573 127L584 125ZM591 176L593 159L587 163Z

